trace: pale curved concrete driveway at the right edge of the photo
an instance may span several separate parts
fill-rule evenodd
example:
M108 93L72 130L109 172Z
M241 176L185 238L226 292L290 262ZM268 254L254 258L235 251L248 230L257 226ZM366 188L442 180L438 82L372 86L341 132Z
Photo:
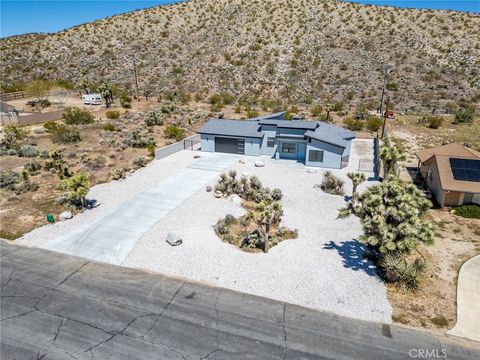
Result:
M460 269L457 324L447 334L480 342L480 255L465 262Z

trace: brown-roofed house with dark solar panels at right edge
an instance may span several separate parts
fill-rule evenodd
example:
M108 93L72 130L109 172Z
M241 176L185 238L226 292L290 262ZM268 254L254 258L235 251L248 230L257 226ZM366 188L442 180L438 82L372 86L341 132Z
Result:
M453 143L415 155L420 173L440 206L480 204L480 152Z

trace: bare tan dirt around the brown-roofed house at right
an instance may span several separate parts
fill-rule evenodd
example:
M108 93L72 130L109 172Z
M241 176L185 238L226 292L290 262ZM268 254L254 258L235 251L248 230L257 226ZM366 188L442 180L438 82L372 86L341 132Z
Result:
M412 181L407 167L415 168L418 150L458 141L464 125L452 124L453 116L445 116L439 129L418 124L419 116L399 116L389 121L388 132L393 143L407 154L400 177ZM434 206L428 220L435 227L435 242L419 250L428 261L428 268L419 291L404 292L388 287L393 306L393 320L405 325L431 330L451 329L456 321L456 289L458 270L469 258L480 253L480 220L465 219Z

